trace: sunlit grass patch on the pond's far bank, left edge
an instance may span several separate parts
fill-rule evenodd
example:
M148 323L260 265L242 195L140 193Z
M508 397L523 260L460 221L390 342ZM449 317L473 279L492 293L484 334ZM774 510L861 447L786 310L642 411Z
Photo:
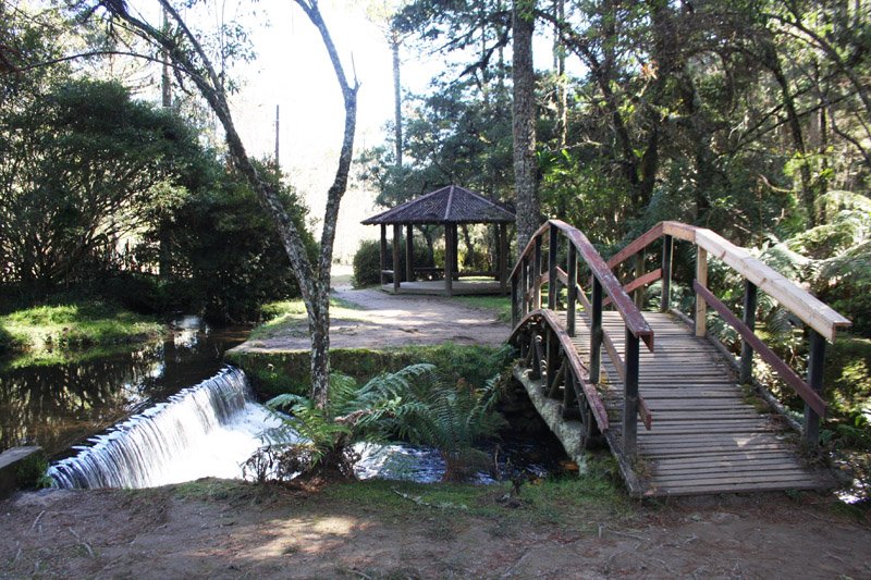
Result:
M98 300L36 306L0 317L0 344L29 353L140 342L163 332L154 319Z

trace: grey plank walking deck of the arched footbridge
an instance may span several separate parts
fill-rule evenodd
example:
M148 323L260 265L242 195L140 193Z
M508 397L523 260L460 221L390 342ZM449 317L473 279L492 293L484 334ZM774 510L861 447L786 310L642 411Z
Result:
M565 314L561 313L564 320ZM623 384L603 349L603 399L609 409L609 444L621 459L634 495L824 489L830 478L805 465L797 436L780 417L760 412L736 383L732 366L714 346L695 336L673 314L645 312L655 348L641 348L639 394L650 409L652 429L639 419L638 457L621 455ZM589 325L577 318L573 343L589 360ZM616 312L603 312L603 328L624 355L624 325ZM580 329L585 329L584 332ZM627 472L628 471L628 472Z

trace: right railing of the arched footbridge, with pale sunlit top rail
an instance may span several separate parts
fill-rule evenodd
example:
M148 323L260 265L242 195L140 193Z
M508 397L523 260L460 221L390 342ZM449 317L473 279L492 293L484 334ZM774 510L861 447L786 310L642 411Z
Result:
M662 267L643 273L643 252L653 243L662 239ZM825 342L834 341L837 329L850 325L850 321L817 299L783 274L761 260L753 258L745 248L735 246L719 234L680 222L661 222L631 242L610 260L608 267L616 269L629 258L636 257L635 276L626 286L636 291L638 301L643 286L662 280L660 309L671 306L672 255L674 240L689 242L696 246L696 276L692 288L696 293L694 308L697 336L707 334L708 306L712 307L741 336L739 360L740 381L752 380L752 356L757 353L805 402L805 441L815 447L819 441L820 419L825 417L827 404L822 398L822 367L825 358ZM739 319L708 288L708 258L714 257L740 274L745 280L744 317ZM640 258L639 258L640 257ZM757 293L762 291L781 306L789 310L809 328L810 358L807 379L801 379L786 362L769 348L755 333Z

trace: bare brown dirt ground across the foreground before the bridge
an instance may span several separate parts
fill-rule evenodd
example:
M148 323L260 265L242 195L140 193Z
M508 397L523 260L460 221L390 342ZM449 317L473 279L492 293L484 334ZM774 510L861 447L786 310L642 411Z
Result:
M185 490L2 502L0 577L871 577L868 521L813 494L634 504L628 515L591 507L548 525L523 506L487 515L410 501L384 508L329 486Z

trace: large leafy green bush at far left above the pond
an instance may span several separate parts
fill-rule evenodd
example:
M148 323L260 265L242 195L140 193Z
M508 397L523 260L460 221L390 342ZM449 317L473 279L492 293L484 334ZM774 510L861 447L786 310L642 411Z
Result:
M198 145L177 118L115 83L66 79L0 113L0 263L5 283L51 289L93 280L158 184Z

